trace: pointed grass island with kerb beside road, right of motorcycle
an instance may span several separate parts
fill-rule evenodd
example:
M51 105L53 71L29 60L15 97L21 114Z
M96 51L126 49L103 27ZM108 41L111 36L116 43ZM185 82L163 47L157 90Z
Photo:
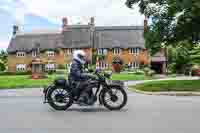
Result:
M168 81L153 81L130 88L149 91L200 91L200 80L168 80Z

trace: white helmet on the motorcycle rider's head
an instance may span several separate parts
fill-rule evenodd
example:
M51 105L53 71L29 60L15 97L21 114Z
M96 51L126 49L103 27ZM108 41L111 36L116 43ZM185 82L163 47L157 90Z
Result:
M86 54L83 50L75 50L73 53L73 59L78 60L81 64L85 64Z

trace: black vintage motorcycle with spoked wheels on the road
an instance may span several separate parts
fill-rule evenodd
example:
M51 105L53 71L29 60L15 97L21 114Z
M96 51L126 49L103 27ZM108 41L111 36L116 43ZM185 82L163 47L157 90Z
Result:
M93 72L90 70L90 72ZM89 86L93 93L92 104L94 105L99 101L100 105L104 105L109 110L120 110L127 103L127 94L124 90L124 84L120 81L109 80L112 73L105 73L96 70L93 72L97 78L88 79ZM56 79L51 85L45 87L44 103L48 103L55 110L66 110L72 104L77 104L77 98L74 93L74 86L65 78Z

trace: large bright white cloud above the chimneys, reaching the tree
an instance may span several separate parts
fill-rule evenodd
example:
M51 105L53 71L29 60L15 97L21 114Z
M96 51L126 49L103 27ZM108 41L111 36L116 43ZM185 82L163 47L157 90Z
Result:
M19 12L33 13L58 24L61 24L61 18L64 16L69 18L70 24L79 21L88 23L90 16L95 16L97 25L142 25L144 19L138 7L128 9L124 0L20 0L20 2L23 9L19 9Z

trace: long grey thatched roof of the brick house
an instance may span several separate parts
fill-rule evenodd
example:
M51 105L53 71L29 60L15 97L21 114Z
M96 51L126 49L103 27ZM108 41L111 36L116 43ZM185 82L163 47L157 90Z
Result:
M31 51L34 48L144 48L143 27L111 26L94 27L71 25L64 31L17 33L7 51ZM93 44L94 40L94 44Z

